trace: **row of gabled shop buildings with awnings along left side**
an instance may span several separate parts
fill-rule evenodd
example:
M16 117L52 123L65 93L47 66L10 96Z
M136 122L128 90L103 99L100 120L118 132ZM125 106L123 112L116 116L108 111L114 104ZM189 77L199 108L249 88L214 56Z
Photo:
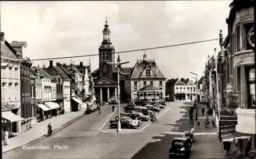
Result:
M5 40L1 33L2 124L11 133L27 131L31 125L77 111L91 95L89 65L50 61L48 67L32 66L24 58L27 42Z

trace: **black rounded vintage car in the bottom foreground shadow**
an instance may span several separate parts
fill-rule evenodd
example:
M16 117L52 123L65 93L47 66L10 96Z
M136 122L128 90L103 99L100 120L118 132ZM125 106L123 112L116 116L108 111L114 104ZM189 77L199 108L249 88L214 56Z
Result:
M192 151L192 142L186 138L174 138L169 148L170 158L189 158Z

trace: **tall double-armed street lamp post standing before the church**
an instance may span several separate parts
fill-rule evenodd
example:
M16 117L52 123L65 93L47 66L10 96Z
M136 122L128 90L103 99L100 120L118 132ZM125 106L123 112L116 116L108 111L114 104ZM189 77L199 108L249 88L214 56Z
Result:
M117 63L114 63L114 62L106 62L108 64L112 64L112 65L116 65L117 66L117 116L118 116L118 121L117 121L117 129L116 131L120 131L121 130L121 123L120 123L120 91L119 91L119 88L120 88L120 81L119 81L119 67L122 65L122 64L126 64L126 63L129 63L129 62L122 62L120 63L120 57L119 57L119 54L118 54L118 58L117 58Z

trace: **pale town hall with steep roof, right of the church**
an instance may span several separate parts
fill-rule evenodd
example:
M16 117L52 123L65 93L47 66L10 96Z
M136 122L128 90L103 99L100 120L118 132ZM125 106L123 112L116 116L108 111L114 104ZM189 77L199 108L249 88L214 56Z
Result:
M154 95L150 95L147 99L152 100L154 98L156 101L165 101L165 80L166 78L158 68L155 60L147 60L146 53L144 53L143 60L136 61L131 70L130 77L124 80L126 100L129 102L137 101L138 96L141 96L138 95L137 91L147 85L152 85L160 90L160 92L158 93L158 96L154 97Z

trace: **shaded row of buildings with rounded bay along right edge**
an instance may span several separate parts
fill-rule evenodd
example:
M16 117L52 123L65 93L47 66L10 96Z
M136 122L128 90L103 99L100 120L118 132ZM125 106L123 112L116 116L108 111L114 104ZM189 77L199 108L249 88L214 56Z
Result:
M237 0L229 5L228 35L223 41L220 31L220 52L216 59L208 58L205 73L218 138L245 157L256 146L253 4Z

